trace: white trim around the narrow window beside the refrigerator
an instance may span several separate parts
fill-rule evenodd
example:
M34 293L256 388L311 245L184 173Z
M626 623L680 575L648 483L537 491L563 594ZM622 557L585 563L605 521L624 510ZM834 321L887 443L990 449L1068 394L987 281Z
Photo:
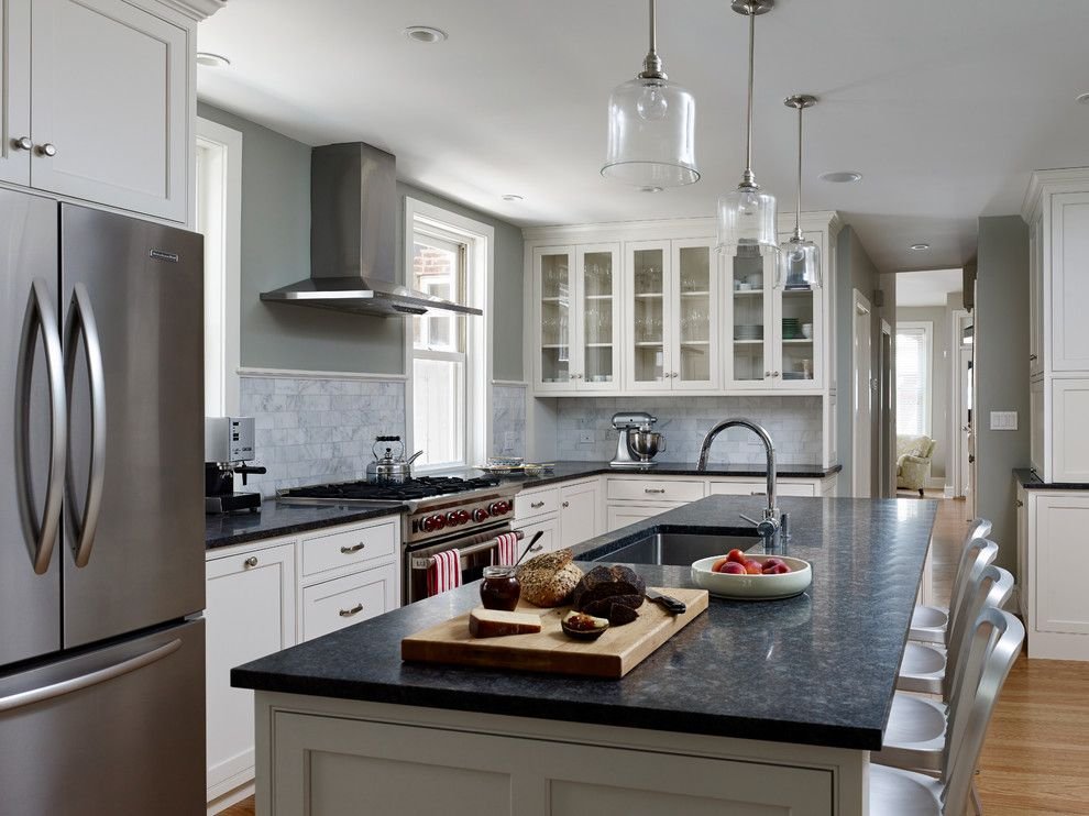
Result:
M241 367L241 288L242 288L242 134L231 128L197 117L197 146L207 148L217 158L221 175L224 235L218 246L205 242L206 256L222 252L223 288L219 294L220 320L223 328L220 371L220 400L223 416L240 411L239 368Z

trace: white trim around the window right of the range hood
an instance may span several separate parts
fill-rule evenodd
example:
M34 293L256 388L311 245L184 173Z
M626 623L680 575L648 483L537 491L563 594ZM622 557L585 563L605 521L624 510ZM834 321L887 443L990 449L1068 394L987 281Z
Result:
M484 269L465 282L468 305L482 309L481 317L469 316L465 326L465 360L469 382L465 384L465 465L472 466L487 457L492 440L492 304L495 293L495 229L490 224L444 210L411 197L405 197L404 258L405 277L413 268L413 243L417 222L457 235L468 245L470 268ZM405 438L406 450L416 450L413 440L413 333L405 327ZM449 470L449 465L435 468L419 467L418 473Z

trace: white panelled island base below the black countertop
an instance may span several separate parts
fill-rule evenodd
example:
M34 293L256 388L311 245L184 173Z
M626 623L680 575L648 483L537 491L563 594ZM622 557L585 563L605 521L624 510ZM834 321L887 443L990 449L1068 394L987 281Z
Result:
M257 811L861 816L866 751L258 693Z

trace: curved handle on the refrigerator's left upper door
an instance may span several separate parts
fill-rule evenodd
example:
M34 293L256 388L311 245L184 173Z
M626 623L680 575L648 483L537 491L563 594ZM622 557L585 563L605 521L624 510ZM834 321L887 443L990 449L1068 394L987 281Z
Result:
M53 559L53 547L61 528L65 462L68 450L68 420L64 387L64 363L61 351L61 329L53 309L48 286L41 278L31 285L23 318L23 334L19 343L18 416L15 432L15 472L19 474L19 501L23 531L30 549L34 572L45 574ZM33 487L30 472L30 389L34 370L34 334L41 329L50 376L50 475L45 489L42 520L35 519Z

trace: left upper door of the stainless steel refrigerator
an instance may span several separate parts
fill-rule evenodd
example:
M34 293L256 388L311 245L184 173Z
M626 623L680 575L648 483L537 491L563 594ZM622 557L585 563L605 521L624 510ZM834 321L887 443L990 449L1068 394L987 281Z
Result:
M64 444L53 439L54 408L62 431L64 424L56 213L55 201L0 190L0 665L61 647L55 548L63 473L55 467L52 518L44 518L52 456ZM51 383L59 389L56 405Z

